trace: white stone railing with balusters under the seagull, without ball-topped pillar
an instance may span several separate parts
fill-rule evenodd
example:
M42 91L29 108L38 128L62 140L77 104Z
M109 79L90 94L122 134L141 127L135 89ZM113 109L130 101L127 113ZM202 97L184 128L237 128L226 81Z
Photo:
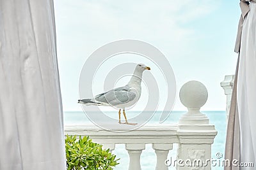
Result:
M90 136L93 142L100 143L104 148L115 149L115 144L125 144L129 153L129 169L139 170L140 155L145 149L145 144L152 144L156 152L156 169L168 169L164 161L167 159L169 150L172 150L173 143L179 143L177 138L177 125L151 124L140 127L134 131L113 132L100 129L94 125L66 125L65 134ZM118 157L118 156L117 156Z

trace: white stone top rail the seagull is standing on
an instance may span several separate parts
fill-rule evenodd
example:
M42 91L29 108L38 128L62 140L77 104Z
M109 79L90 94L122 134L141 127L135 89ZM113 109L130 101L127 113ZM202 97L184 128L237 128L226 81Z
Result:
M90 136L99 143L178 143L177 129L173 124L147 124L134 131L116 132L95 125L66 125L65 134Z

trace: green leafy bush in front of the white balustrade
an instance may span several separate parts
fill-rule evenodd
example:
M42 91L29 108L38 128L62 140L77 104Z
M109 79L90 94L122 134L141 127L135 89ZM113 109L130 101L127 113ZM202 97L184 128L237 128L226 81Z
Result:
M68 170L111 170L117 164L116 155L103 150L102 145L93 143L89 136L68 136L66 143L66 159Z

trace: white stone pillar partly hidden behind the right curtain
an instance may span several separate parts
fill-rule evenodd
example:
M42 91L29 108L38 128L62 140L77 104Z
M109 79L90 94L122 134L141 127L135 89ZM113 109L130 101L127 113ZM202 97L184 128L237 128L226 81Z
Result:
M235 75L227 75L224 80L220 83L220 86L224 89L225 95L227 96L226 115L228 120L230 102L232 97L232 89L234 85Z

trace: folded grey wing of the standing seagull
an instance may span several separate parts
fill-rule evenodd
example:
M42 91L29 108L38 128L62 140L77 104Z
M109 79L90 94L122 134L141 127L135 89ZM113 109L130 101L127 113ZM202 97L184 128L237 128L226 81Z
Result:
M99 94L94 97L95 101L100 103L109 104L112 106L118 106L120 104L128 103L132 101L136 97L135 92L130 91L130 87L118 87L113 90L109 90L108 92Z

